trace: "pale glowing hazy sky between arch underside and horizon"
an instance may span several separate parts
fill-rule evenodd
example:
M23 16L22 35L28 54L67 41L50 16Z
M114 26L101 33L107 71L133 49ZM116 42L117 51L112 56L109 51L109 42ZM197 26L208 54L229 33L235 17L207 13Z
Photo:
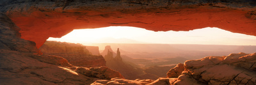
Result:
M175 43L207 45L256 45L256 36L231 33L217 27L192 31L148 31L139 27L111 26L97 29L74 29L51 41L71 43Z

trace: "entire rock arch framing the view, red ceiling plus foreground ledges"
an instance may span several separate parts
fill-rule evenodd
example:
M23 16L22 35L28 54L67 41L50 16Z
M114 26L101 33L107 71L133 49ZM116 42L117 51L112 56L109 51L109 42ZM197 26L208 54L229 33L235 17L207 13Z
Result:
M73 29L82 28L134 26L152 31L189 31L209 26L255 36L256 2L254 0L0 0L0 2L0 74L4 74L0 75L1 84L120 84L118 81L125 84L256 83L256 53L241 52L241 49L246 47L239 47L238 54L228 56L223 54L219 57L211 55L186 61L184 65L179 64L168 72L171 74L168 77L175 78L159 78L156 81L113 78L124 77L104 66L85 68L70 65L67 59L58 56L35 54L38 52L36 47L43 45L47 38L61 37ZM166 47L166 45L161 46ZM189 49L188 46L184 47ZM122 49L119 51L116 53L124 54ZM188 52L184 51L184 53ZM161 61L161 59L157 60ZM154 73L159 73L158 70L159 68Z

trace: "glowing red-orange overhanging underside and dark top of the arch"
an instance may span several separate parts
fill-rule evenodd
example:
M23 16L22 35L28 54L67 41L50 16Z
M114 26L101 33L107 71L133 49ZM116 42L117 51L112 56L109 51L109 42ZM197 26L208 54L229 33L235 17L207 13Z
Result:
M134 26L153 31L220 27L256 35L253 0L1 0L0 11L21 28L22 38L39 48L49 36L72 29Z

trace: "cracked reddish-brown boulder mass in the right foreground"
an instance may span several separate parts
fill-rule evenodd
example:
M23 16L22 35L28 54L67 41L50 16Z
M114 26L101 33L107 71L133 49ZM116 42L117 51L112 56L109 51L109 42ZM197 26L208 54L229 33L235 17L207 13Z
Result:
M256 53L209 56L184 63L182 75L204 84L256 84ZM179 80L178 78L178 80ZM180 79L186 81L187 79ZM175 84L174 82L173 84ZM179 83L179 81L177 81Z

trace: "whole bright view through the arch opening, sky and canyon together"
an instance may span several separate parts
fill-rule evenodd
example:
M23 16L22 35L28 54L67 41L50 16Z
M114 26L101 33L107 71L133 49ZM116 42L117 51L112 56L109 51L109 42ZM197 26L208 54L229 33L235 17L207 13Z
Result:
M256 50L256 36L217 27L156 32L139 27L110 26L74 29L61 38L48 40L40 47L43 53L63 56L76 66L106 65L126 79L157 79L166 76L164 72L177 63L189 59ZM91 59L90 55L95 56ZM159 73L154 73L156 70Z

